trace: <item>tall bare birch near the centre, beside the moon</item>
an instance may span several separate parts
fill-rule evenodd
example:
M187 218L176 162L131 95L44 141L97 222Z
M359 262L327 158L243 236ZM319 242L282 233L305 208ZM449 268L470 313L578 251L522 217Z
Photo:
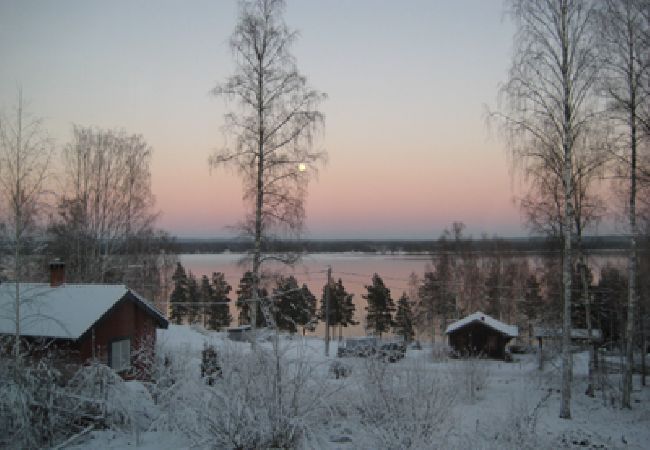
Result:
M270 238L277 232L300 233L308 174L325 157L313 138L324 123L318 107L326 96L298 72L291 53L297 33L285 24L284 9L283 0L240 3L230 38L235 71L212 90L237 106L225 116L230 142L209 164L230 165L243 179L244 200L251 208L240 225L254 240L253 302L259 302L262 262L277 258L269 254ZM256 311L251 308L253 326Z

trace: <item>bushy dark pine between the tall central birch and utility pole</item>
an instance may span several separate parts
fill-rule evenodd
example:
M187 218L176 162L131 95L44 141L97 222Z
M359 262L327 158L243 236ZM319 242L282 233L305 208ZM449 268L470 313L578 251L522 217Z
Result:
M302 326L304 334L304 328L313 323L316 297L306 285L299 288L293 276L280 278L273 294L276 299L274 314L278 328L295 333L298 326Z

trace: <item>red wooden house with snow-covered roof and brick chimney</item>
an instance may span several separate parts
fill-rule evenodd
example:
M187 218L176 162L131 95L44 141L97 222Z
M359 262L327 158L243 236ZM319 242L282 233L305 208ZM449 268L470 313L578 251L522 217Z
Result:
M156 329L168 326L164 315L124 285L66 284L60 263L51 265L50 279L19 284L21 336L47 343L59 364L95 359L125 378L139 378L138 363L153 356ZM0 335L15 334L15 324L16 285L3 283ZM136 352L144 357L135 358Z

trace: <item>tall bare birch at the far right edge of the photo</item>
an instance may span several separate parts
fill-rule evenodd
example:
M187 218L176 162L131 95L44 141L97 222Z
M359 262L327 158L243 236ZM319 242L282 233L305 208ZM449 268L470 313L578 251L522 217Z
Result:
M634 323L637 310L637 160L640 130L648 125L648 75L650 71L650 4L644 0L604 0L597 23L604 61L604 90L608 112L621 129L623 142L618 160L629 182L627 215L629 225L628 300L625 333L625 369L621 404L630 408Z

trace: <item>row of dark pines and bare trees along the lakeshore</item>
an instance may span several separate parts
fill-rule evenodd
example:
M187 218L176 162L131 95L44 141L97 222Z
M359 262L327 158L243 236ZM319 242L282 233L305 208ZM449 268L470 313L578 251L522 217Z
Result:
M527 259L513 256L507 250L494 246L490 252L478 253L465 245L463 224L455 223L453 231L446 231L440 238L443 252L432 255L431 262L422 274L412 273L408 289L399 299L394 299L391 289L380 274L371 277L365 285L362 298L366 306L357 310L354 294L345 289L342 277L325 284L317 306L316 297L306 284L300 285L295 276L276 275L258 297L269 299L275 322L282 331L296 333L313 332L318 322L325 322L326 295L330 296L330 326L332 336L338 329L342 338L344 327L362 324L364 333L391 334L410 342L415 338L435 342L444 336L447 326L476 311L482 311L505 323L516 324L521 330L520 338L529 343L533 340L533 326L557 328L561 326L559 314L562 302L561 258L557 254L542 258L541 267L532 267ZM643 270L650 268L650 258L641 259ZM603 344L620 348L623 345L627 280L620 267L607 263L598 268L587 267L592 308L589 311L594 328L601 330ZM579 298L580 271L574 269L575 298ZM225 282L222 273L213 273L220 288L201 288L208 285L203 276L197 283L191 273L185 274L181 263L177 263L174 274L174 291L170 297L170 319L174 323L203 323L207 328L220 330L233 322L229 315L231 299L228 293L232 287ZM188 281L189 280L189 281ZM213 282L214 283L214 282ZM189 287L188 287L189 286ZM253 295L251 273L245 272L235 291L234 304L238 311L237 324L250 325L250 309ZM221 294L214 295L215 292ZM207 295L206 295L207 294ZM644 303L650 295L650 283L641 285L640 294ZM217 306L209 302L221 302L220 317L212 319ZM259 308L258 308L259 310ZM571 306L572 323L575 328L586 328L586 311L582 302L574 301ZM259 312L257 327L268 324ZM207 325L206 325L207 324Z

